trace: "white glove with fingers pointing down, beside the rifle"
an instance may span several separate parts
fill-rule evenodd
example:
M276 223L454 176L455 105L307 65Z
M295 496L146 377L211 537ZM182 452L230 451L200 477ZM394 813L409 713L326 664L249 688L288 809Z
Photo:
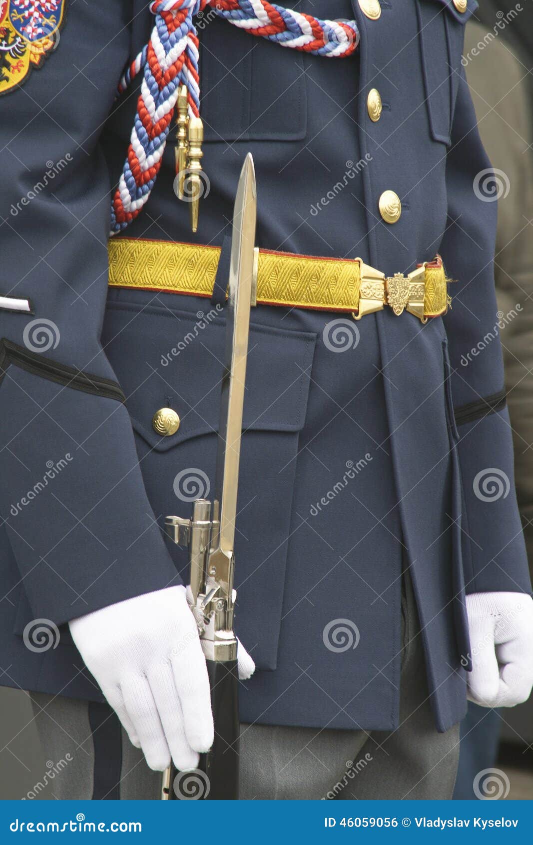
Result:
M150 769L195 769L213 743L209 678L184 586L72 619L73 641Z

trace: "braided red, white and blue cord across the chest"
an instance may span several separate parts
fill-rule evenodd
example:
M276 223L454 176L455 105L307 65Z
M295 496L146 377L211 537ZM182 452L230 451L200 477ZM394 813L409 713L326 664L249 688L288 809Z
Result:
M209 8L234 26L314 56L351 56L359 42L354 20L319 20L267 0L156 0L150 41L118 85L120 93L143 71L128 157L111 202L111 235L139 215L160 170L181 85L189 115L199 114L199 39L193 19Z

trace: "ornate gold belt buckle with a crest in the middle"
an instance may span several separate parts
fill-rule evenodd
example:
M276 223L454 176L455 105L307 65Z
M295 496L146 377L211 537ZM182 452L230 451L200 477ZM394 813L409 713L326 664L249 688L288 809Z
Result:
M381 311L384 305L389 305L396 316L406 310L422 323L427 323L427 317L424 317L426 262L408 275L394 273L394 276L386 276L362 259L356 261L361 267L361 285L359 308L357 313L352 312L353 319L361 319L365 314Z

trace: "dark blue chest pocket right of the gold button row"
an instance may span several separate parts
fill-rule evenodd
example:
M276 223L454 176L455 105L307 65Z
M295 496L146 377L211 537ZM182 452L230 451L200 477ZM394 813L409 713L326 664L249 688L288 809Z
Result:
M453 0L416 2L430 134L443 144L451 143L465 23L477 5L468 0L465 12L460 12Z

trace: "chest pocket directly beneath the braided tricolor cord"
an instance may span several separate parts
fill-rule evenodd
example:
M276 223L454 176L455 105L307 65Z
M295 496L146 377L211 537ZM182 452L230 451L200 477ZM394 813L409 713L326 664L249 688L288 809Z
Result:
M305 138L303 56L223 20L200 31L200 84L206 141ZM274 70L273 70L274 68Z

